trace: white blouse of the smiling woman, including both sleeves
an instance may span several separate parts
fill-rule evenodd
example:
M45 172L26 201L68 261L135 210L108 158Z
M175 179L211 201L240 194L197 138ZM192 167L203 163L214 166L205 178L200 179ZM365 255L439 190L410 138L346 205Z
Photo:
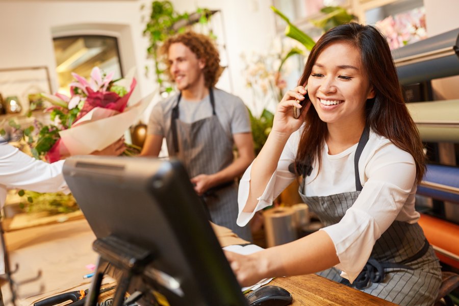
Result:
M301 129L300 129L301 130ZM242 212L248 198L251 165L239 184L239 215L237 224L243 226L256 211L272 205L293 180L288 166L295 160L300 130L289 138L263 194L252 213ZM327 196L355 191L354 154L357 144L340 154L329 155L325 144L322 165L317 165L306 177L303 192L307 196ZM370 257L375 241L394 220L415 223L416 165L413 157L395 146L387 138L370 131L370 137L359 160L359 174L363 190L342 220L322 228L333 240L340 263L341 276L353 282Z

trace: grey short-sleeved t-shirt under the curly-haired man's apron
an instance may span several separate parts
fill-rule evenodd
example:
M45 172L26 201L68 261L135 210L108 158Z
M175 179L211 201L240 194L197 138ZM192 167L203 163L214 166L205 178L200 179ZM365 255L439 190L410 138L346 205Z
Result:
M166 136L170 130L172 109L177 104L179 94L174 94L155 105L148 120L148 134ZM247 107L241 98L214 88L215 113L229 137L233 134L251 132ZM210 96L200 101L187 101L184 97L179 104L179 119L192 123L212 116Z

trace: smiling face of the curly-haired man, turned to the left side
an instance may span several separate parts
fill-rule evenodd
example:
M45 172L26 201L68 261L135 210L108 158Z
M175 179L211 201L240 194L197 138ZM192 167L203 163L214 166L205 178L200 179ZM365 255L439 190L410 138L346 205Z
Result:
M198 59L183 43L176 42L170 45L168 60L170 74L180 91L197 86L200 78L203 81L202 69L206 66L204 61Z

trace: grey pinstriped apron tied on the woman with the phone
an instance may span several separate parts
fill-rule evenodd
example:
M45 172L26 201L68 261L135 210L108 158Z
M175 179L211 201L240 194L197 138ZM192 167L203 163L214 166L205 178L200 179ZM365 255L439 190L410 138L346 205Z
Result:
M368 138L369 128L366 127L354 156L356 191L306 196L306 192L303 193L305 180L302 181L301 198L324 226L340 222L362 191L359 159ZM311 173L311 166L303 168L306 170L300 173ZM400 221L394 221L376 240L370 259L352 285L340 273L339 269L330 268L317 274L400 305L431 306L442 283L439 261L422 228L418 223Z

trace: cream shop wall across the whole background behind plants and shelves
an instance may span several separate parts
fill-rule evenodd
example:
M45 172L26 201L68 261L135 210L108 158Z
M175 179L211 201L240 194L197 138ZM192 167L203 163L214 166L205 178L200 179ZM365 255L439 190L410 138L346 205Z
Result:
M228 69L218 87L233 92L246 102L253 99L241 73L241 53L268 51L275 36L275 15L269 0L172 0L176 10L193 12L197 7L221 10L219 22L227 50ZM0 0L0 68L48 66L56 89L53 35L80 32L113 34L119 37L121 61L126 72L137 67L138 89L134 97L148 94L154 76L145 75L147 38L143 37L142 4L147 0ZM457 0L424 0L429 35L459 27ZM150 69L151 71L151 69ZM456 79L435 84L439 96L459 97Z

